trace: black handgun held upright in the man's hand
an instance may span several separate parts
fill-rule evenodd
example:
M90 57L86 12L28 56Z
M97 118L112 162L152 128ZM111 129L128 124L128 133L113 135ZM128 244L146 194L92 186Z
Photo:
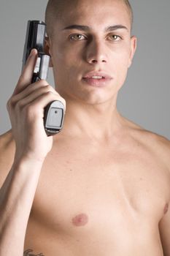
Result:
M50 56L45 54L45 29L46 24L40 20L28 20L26 42L23 49L23 67L33 48L38 51L31 83L40 79L47 79ZM47 136L61 132L65 107L61 101L55 100L45 107L44 127Z

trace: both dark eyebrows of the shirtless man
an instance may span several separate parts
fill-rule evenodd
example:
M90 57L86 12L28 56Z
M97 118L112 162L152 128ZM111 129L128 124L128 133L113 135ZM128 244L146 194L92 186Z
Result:
M66 30L66 29L77 29L77 30L80 30L80 31L90 31L90 29L92 30L92 28L90 28L89 26L77 25L77 24L66 26L62 30ZM126 26L123 26L123 25L107 26L107 28L105 28L104 31L109 32L109 31L115 31L117 29L126 29L128 31L128 28Z

